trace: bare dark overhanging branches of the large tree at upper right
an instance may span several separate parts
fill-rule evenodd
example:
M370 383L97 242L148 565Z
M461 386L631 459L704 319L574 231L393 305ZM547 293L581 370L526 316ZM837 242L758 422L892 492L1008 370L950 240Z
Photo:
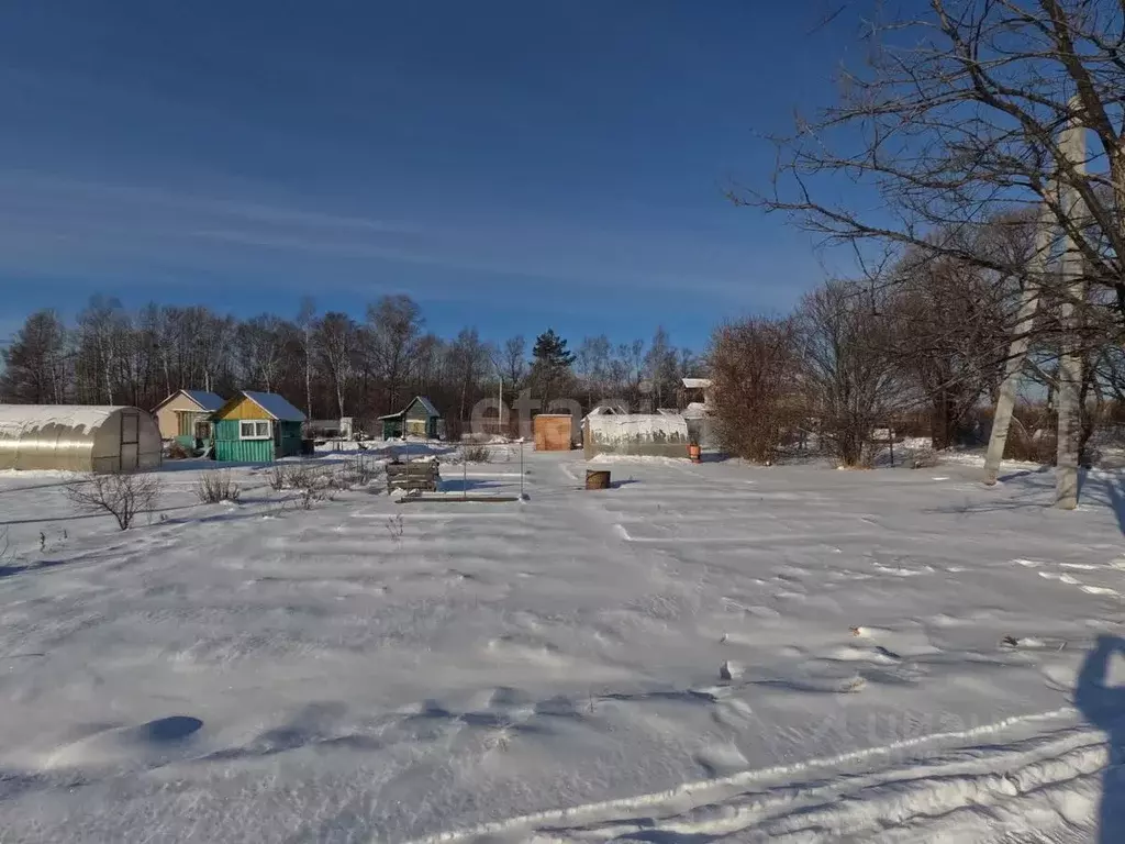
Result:
M914 246L1020 275L997 254L934 237L1041 205L1076 240L1086 277L1112 290L1125 317L1125 89L1118 0L930 0L909 19L868 21L871 61L845 72L840 101L780 140L773 190L731 197L792 214L828 242ZM1091 167L1074 161L1060 131L1074 123L1097 140ZM1099 164L1100 165L1094 165ZM880 201L860 210L824 197L837 179ZM1059 190L1051 188L1058 180ZM1089 224L1060 197L1073 190ZM1047 282L1051 279L1038 279ZM1079 304L1079 303L1076 303Z

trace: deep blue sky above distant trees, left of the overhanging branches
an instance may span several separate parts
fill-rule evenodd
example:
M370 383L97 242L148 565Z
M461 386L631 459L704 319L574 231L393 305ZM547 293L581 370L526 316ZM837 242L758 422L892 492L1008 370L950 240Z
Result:
M834 98L855 41L818 28L834 9L6 3L0 334L94 291L357 317L407 293L442 334L663 323L702 348L824 276L721 189L766 186L760 135Z

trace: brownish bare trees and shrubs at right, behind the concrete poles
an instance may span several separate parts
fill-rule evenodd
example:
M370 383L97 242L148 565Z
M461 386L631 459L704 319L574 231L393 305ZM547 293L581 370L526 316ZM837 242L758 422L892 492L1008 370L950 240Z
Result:
M1115 303L1088 290L1076 332L1061 318L1073 304L1066 290L1044 285L1027 321L1022 305L1036 231L1026 215L938 234L962 239L968 254L907 249L870 278L826 282L789 314L716 331L708 361L720 437L732 452L772 461L814 438L843 465L860 466L886 429L929 434L937 450L980 445L1011 339L1023 332L1028 350L1018 375L1035 399L1027 408L1041 416L1029 424L1041 433L1055 430L1064 350L1081 359L1078 449L1089 461L1096 425L1120 416L1125 404L1125 331ZM1008 271L989 267L992 260ZM1020 456L1051 459L1045 450Z

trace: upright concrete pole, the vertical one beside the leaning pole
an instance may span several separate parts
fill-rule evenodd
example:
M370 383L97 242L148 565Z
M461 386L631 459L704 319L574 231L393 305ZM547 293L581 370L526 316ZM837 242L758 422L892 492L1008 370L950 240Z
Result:
M1072 100L1071 108L1078 108ZM1079 173L1086 171L1086 129L1071 118L1063 129L1059 145L1066 161ZM1063 212L1077 225L1086 215L1082 200L1073 185L1062 191ZM1082 358L1078 349L1076 305L1086 298L1082 253L1077 240L1063 234L1063 253L1060 267L1063 302L1059 318L1062 325L1059 358L1059 452L1055 461L1055 506L1073 510L1078 506L1078 433L1079 390L1082 384Z

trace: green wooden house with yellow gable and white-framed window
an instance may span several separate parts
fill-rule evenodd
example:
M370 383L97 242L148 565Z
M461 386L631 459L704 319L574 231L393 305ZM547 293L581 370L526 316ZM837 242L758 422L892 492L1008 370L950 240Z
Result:
M276 393L244 389L214 415L215 459L270 463L300 454L305 414Z

